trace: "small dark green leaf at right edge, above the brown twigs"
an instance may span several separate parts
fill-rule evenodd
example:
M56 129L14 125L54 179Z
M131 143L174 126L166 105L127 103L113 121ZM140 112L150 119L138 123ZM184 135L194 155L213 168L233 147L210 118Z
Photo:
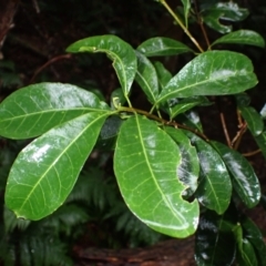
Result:
M264 122L259 113L252 106L239 106L238 109L252 134L259 135L264 130Z

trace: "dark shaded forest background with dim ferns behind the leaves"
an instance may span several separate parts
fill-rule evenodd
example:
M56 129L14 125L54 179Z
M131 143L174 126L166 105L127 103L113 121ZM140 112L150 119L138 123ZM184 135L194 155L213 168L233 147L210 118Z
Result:
M64 49L79 39L116 34L136 48L144 40L161 35L191 45L184 32L173 23L163 7L153 0L10 2L12 7L6 1L0 3L0 101L19 88L43 81L76 84L109 101L112 91L119 86L112 64L104 54L66 54ZM198 6L215 2L217 1L196 1ZM266 39L265 1L236 2L247 8L250 14L244 22L235 23L234 29L255 30ZM173 8L181 6L180 0L171 0L168 3ZM10 21L8 16L11 18ZM202 47L206 48L196 23L191 25L191 31L197 40L201 40ZM212 30L207 30L207 33L211 40L218 37L218 33ZM252 47L227 48L243 52L253 60L259 84L248 93L253 106L260 110L266 102L265 51ZM191 59L190 57L168 57L163 59L163 62L172 73L176 73ZM132 99L136 108L147 104L136 85L133 93ZM223 98L219 108L229 116L228 130L235 131L236 117L231 115L234 109L233 100ZM217 108L211 106L198 111L207 135L224 141ZM48 264L43 265L72 265L73 262L79 262L79 254L89 247L144 247L166 239L165 236L147 228L129 212L113 177L112 152L101 145L89 158L90 165L94 166L88 164L84 167L74 191L59 211L40 222L17 221L13 214L4 208L4 186L14 157L28 143L29 141L0 139L2 264L27 265L27 262L34 262L33 265L42 265L38 259L41 262L45 258ZM247 134L241 151L254 150L256 145ZM250 162L264 184L266 165L263 157L258 154L253 156ZM266 234L265 215L259 208L254 212L254 217ZM187 247L185 244L183 246ZM174 253L174 249L172 252Z

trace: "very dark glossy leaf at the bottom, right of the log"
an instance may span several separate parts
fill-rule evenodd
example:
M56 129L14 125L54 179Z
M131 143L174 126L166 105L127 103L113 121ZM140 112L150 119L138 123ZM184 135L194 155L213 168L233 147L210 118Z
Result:
M222 224L231 224L226 216L207 211L202 214L195 239L195 260L201 266L232 265L235 259L236 242L232 228L224 231Z

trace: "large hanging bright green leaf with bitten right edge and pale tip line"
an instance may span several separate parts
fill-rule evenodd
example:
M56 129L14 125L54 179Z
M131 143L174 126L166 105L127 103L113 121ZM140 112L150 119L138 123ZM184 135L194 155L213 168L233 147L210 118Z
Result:
M180 163L177 145L154 121L134 115L122 124L114 172L124 201L143 223L173 237L193 234L198 221L198 203L182 198Z

